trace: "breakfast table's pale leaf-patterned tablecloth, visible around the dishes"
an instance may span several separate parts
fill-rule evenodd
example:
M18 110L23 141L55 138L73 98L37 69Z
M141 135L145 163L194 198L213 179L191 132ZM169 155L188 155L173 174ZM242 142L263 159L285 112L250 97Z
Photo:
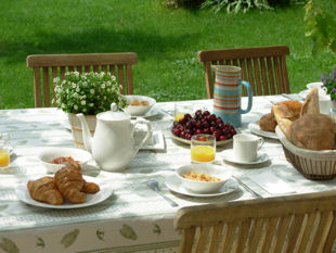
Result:
M254 127L258 119L283 100L283 96L254 97L253 109L243 114L237 130L257 132ZM189 102L193 110L212 110L212 100ZM243 98L243 107L246 102ZM336 179L306 179L286 161L276 137L263 136L261 161L255 164L224 160L232 142L217 147L216 164L233 176L227 192L185 194L177 186L175 173L191 163L190 146L170 134L173 107L175 102L156 103L146 117L154 132L163 137L158 147L142 149L126 170L88 172L109 193L103 201L80 208L41 207L17 198L17 189L25 187L28 179L46 175L46 167L38 160L41 151L74 148L66 115L54 107L0 110L0 132L10 134L13 147L10 166L0 168L0 252L173 253L180 233L172 219L182 206L336 189ZM151 189L148 180L157 181L160 193L177 206Z

